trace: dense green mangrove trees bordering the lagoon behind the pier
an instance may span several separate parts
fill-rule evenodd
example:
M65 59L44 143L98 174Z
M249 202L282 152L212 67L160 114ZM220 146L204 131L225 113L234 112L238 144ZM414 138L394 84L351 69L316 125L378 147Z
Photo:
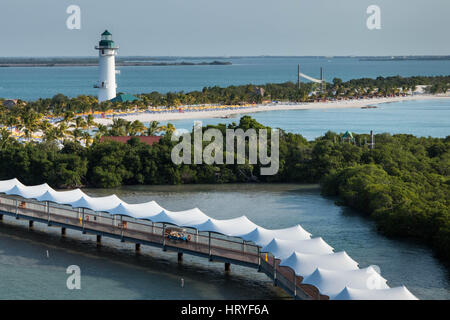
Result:
M265 128L244 116L239 124L217 125L256 130ZM206 129L206 128L204 128ZM323 192L373 217L383 232L423 239L445 259L450 258L450 137L369 135L328 132L315 141L280 131L280 169L261 176L260 165L176 165L171 131L149 146L132 138L128 143L77 141L20 144L0 140L0 179L17 177L26 184L48 182L54 187L117 187L131 184L231 182L321 182ZM204 146L209 143L204 142Z

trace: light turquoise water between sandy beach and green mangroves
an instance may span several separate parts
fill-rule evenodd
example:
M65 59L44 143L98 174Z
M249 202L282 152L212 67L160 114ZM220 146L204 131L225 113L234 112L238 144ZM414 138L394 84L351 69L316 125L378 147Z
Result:
M205 125L239 123L238 114L232 118L198 119ZM379 104L376 109L311 109L280 110L248 113L258 122L287 132L299 133L308 140L322 136L327 131L375 134L389 132L409 133L423 137L450 135L450 98L416 100ZM192 130L195 119L171 120L177 129Z

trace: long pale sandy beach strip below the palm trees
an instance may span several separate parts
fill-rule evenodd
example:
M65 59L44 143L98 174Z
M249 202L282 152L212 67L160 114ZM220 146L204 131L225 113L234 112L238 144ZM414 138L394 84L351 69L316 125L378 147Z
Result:
M381 103L411 101L411 100L433 100L450 98L446 95L415 95L406 97L389 97L389 98L373 98L361 100L346 101L328 101L328 102L310 102L301 104L268 104L256 105L255 107L235 109L235 110L212 110L212 111L194 111L194 112L167 112L167 113L141 113L138 115L116 115L115 118L122 118L127 121L139 120L141 122L150 121L168 121L182 119L207 119L207 118L223 118L236 114L249 114L254 112L265 112L274 110L312 110L312 109L340 109L340 108L362 108L374 106ZM112 123L111 118L95 119L95 122L108 125Z

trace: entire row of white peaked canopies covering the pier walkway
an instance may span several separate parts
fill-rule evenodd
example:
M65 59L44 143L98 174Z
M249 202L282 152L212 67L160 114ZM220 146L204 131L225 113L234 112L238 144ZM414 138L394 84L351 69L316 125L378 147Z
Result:
M302 283L314 285L330 299L417 299L404 286L390 288L374 268L360 269L345 251L334 252L322 238L313 238L300 225L270 230L245 216L218 220L198 208L174 212L155 201L129 204L116 195L91 197L80 189L56 191L48 184L25 186L17 179L0 181L0 193L238 237L260 246L261 252L280 259L281 266L287 266L303 277Z

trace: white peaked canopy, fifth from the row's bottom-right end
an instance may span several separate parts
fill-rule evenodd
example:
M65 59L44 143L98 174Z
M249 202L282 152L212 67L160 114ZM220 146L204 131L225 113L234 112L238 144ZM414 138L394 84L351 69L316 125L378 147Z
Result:
M246 234L240 234L238 237L244 239L245 241L252 241L257 245L264 247L274 238L292 241L306 240L311 239L311 234L298 224L294 227L275 230L256 227L253 231Z

